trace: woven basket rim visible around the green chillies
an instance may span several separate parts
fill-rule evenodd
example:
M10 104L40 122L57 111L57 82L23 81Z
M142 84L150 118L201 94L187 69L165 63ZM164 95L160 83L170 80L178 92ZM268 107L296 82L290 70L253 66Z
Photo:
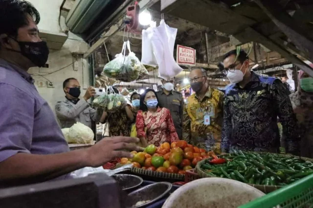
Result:
M249 151L247 151L249 153ZM259 154L267 154L268 152L258 152ZM271 154L275 154L275 153L271 153ZM229 154L228 154L229 155ZM286 156L286 157L291 157L290 155L284 155L284 154L281 154L283 156ZM298 156L292 156L292 157L295 157L295 158L300 158ZM205 160L201 160L197 166L196 166L196 170L199 174L199 176L201 178L210 178L212 176L210 175L207 175L203 170L201 170L201 165L204 164L206 161L210 160L211 158L208 158L208 159L205 159ZM313 159L311 158L306 158L306 157L301 157L302 160L304 161L310 161L310 162L313 162ZM257 184L248 184L256 189L259 189L261 190L262 192L264 193L269 193L269 192L272 192L274 190L277 190L279 188L282 188L283 186L265 186L265 185L257 185Z

